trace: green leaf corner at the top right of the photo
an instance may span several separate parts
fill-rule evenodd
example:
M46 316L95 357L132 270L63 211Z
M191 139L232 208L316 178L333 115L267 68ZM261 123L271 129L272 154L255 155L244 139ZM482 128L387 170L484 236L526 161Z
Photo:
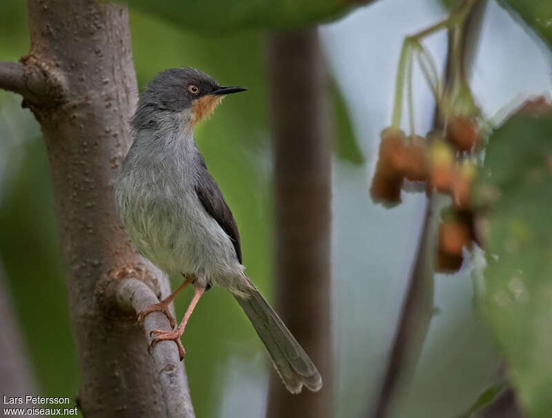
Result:
M499 3L515 12L552 48L552 2L550 0L500 0Z

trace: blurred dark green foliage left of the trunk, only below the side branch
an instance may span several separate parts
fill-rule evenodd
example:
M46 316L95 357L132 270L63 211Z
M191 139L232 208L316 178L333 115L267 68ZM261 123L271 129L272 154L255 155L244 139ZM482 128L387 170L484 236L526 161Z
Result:
M42 394L75 395L75 342L69 330L46 149L34 138L10 154L10 162L17 164L8 163L9 187L1 188L1 262Z

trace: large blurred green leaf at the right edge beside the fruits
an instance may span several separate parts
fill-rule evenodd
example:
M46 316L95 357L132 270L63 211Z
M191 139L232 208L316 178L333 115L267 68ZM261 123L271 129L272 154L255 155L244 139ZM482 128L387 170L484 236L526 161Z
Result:
M478 201L493 203L477 297L530 417L552 410L552 115L513 115L491 136Z

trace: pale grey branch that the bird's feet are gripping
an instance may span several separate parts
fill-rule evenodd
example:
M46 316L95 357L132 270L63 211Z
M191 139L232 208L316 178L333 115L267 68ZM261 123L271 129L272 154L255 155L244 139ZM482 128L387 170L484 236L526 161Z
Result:
M158 303L159 299L151 288L139 279L126 278L120 281L111 281L106 297L112 299L117 307L126 312L137 314L152 303ZM152 312L144 319L144 332L148 343L151 342L152 330L168 330L170 324L161 312ZM144 350L146 347L144 347ZM155 371L159 376L161 391L166 406L168 418L192 418L194 417L192 400L188 391L188 381L184 375L179 352L172 341L160 341L150 350L155 362Z

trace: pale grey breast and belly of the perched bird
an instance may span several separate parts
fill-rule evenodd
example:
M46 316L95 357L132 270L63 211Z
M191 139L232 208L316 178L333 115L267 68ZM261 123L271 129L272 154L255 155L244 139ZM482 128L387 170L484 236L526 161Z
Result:
M168 273L238 288L244 268L230 237L197 197L193 162L156 157L153 163L130 155L117 181L117 210L135 248Z

